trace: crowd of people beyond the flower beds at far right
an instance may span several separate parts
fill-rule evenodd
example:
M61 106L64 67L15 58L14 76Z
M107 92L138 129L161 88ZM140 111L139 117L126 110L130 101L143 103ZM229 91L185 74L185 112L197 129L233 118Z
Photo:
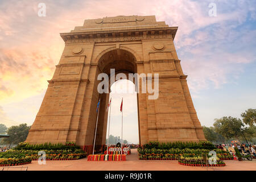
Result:
M219 145L216 145L217 148L221 149L221 150L226 150L226 151L229 151L230 154L233 154L231 150L229 150L229 147L237 147L238 151L240 152L244 152L244 153L248 153L248 154L251 154L253 155L254 157L256 157L256 154L255 154L255 150L256 150L256 144L254 145L249 145L249 144L236 144L236 143L233 143L233 144L219 144ZM224 149L225 147L225 149Z

